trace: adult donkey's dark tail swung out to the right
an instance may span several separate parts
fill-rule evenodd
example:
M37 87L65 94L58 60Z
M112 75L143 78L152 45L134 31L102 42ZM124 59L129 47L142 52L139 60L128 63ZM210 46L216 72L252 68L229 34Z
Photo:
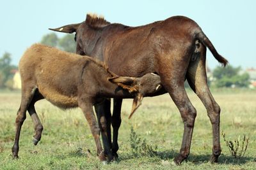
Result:
M204 32L202 31L202 29L196 31L195 34L195 38L199 39L199 41L201 43L203 43L205 46L207 46L209 48L209 50L211 51L212 55L214 56L214 58L216 60L218 60L218 62L220 62L224 67L228 64L228 60L225 59L224 57L222 57L217 50L214 48L214 46L212 45L211 41L207 38L207 36L205 36Z

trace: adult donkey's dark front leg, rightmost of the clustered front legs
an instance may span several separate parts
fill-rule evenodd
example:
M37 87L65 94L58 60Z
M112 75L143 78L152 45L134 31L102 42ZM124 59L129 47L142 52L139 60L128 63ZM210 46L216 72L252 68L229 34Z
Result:
M114 99L114 107L113 107L113 115L111 119L112 127L113 127L113 146L112 146L112 154L114 159L118 158L118 154L116 153L119 149L118 146L118 129L121 125L121 106L123 99Z

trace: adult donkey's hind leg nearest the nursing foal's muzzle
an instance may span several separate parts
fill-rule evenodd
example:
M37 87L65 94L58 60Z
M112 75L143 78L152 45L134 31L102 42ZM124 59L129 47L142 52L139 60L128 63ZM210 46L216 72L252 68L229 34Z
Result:
M182 56L182 57L181 57ZM184 57L183 57L184 56ZM170 60L169 60L170 59ZM184 123L184 133L180 153L175 157L175 164L180 164L189 155L191 138L196 118L196 110L189 101L184 89L184 79L186 69L189 64L189 57L184 55L166 56L159 67L159 76L164 89L170 94L174 103L180 111L182 121Z

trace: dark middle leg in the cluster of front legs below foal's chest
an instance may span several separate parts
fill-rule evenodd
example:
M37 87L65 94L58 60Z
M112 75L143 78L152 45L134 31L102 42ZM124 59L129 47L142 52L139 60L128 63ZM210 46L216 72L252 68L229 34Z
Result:
M106 99L104 103L97 104L97 106L95 106L95 111L97 111L104 153L108 156L108 160L111 161L113 159L113 155L111 154L111 113L109 99Z

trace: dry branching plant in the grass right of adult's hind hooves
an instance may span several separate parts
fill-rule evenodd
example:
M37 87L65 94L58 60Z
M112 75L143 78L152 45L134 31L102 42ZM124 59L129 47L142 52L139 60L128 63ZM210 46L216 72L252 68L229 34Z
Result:
M236 159L244 157L244 153L248 148L250 138L246 138L246 136L244 135L243 141L240 140L240 136L238 137L238 139L235 139L234 141L227 141L225 138L225 133L222 132L221 134L231 155Z

